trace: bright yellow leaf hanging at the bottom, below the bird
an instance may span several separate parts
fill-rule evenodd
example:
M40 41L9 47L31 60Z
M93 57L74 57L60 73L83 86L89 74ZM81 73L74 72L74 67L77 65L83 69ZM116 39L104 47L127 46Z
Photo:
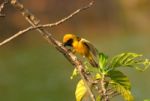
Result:
M75 91L76 101L81 101L86 93L87 93L87 88L83 80L80 80L77 84L76 91Z

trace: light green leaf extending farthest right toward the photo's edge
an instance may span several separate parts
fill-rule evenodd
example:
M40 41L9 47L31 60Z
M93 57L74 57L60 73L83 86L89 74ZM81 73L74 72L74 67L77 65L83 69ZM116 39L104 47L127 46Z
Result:
M148 59L141 59L140 57L142 57L141 54L122 53L112 59L109 68L133 67L139 71L144 71L150 66L150 61Z

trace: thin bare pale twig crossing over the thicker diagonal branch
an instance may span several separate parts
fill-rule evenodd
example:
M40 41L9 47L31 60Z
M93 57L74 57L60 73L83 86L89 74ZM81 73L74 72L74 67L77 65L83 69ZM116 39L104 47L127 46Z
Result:
M11 36L11 37L5 39L4 41L2 41L2 42L0 43L0 46L2 46L2 45L4 45L4 44L6 44L6 43L12 41L13 39L17 38L18 36L20 36L20 35L22 35L22 34L25 34L25 33L28 32L28 31L35 30L35 29L37 29L37 28L46 28L46 27L51 28L51 27L54 27L54 26L58 26L58 25L64 23L65 21L71 19L73 16L77 15L79 12L90 8L93 4L94 4L94 1L91 1L88 5L86 5L86 6L82 7L82 8L77 9L76 11L74 11L73 13L71 13L70 15L64 17L63 19L61 19L61 20L59 20L59 21L57 21L57 22L50 23L50 24L44 24L44 25L37 25L37 26L35 26L35 27L32 27L32 26L31 26L31 27L28 27L28 28L26 28L26 29L24 29L24 30L21 30L21 31L15 33L13 36ZM37 22L38 22L38 21L37 21Z

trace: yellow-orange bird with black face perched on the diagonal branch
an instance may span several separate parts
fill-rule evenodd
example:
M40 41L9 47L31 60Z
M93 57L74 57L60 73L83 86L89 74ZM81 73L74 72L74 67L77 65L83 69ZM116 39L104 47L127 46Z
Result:
M98 51L88 40L73 34L66 34L63 37L63 44L72 47L73 53L79 53L81 56L86 57L93 67L98 67Z

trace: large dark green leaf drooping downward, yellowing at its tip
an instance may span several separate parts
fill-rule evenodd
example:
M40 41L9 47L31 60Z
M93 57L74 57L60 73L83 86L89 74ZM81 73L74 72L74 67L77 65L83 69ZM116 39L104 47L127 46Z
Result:
M114 70L109 71L108 76L111 78L110 85L121 94L126 101L133 101L133 96L131 94L131 84L127 76L122 72Z

